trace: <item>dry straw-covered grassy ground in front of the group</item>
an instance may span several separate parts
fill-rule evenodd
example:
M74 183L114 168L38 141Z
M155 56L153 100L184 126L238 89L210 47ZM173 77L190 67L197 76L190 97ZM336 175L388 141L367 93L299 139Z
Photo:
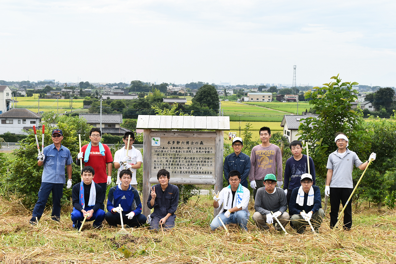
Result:
M205 196L180 206L170 232L137 228L120 235L119 228L93 230L89 222L77 234L67 212L58 223L46 211L40 224L31 226L30 211L15 201L0 201L0 263L396 263L395 211L354 212L350 231L332 231L326 219L316 235L308 229L293 233L290 226L289 236L273 229L259 232L251 222L248 232L228 226L228 235L223 229L209 231L211 203ZM116 251L122 246L131 252L129 258Z

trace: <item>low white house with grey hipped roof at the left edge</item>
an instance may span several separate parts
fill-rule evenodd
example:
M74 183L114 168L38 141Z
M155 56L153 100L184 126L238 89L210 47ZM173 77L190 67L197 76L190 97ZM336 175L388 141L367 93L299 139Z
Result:
M12 108L0 114L0 134L10 132L18 135L27 135L33 125L38 127L41 122L41 115L26 108Z

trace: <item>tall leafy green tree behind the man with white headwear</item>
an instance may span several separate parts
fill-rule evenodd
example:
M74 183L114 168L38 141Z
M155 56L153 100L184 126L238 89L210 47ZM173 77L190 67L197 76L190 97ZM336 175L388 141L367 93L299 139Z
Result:
M309 154L315 161L318 186L324 186L326 179L327 158L336 149L334 136L343 132L349 139L349 149L360 157L366 157L370 148L372 131L366 131L362 111L352 110L352 102L356 101L356 90L352 85L356 82L343 82L337 76L331 77L335 82L324 84L324 87L314 87L305 93L305 98L311 97L309 104L312 110L319 114L318 118L307 117L299 126L300 140L309 143Z

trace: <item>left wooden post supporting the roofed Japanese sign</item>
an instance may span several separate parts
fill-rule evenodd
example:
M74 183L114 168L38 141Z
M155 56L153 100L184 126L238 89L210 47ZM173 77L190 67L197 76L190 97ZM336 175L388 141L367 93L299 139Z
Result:
M150 209L147 207L148 196L150 195L150 171L151 171L151 129L143 130L143 201L142 213L147 216Z

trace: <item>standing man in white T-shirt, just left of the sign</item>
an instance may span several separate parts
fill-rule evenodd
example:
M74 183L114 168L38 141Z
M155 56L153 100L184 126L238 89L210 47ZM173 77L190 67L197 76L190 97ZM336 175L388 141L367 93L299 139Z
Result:
M131 139L128 146L128 155L125 156L129 135L131 135ZM114 154L114 168L118 169L117 184L121 182L120 171L123 169L130 169L132 171L132 180L130 184L133 188L137 189L136 169L139 169L142 166L143 157L141 152L132 146L133 142L135 142L135 134L133 134L133 132L125 132L122 141L124 141L125 144L124 148L117 150Z

